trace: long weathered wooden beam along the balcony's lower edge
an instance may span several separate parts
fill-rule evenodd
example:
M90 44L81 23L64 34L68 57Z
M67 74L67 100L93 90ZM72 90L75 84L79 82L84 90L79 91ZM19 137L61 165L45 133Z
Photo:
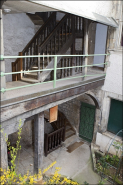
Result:
M102 78L102 77L100 77ZM66 98L82 94L84 92L87 92L88 90L97 88L99 86L104 85L104 77L103 79L100 79L95 82L90 82L89 84L81 84L81 86L71 88L68 90L64 90L61 92L56 92L50 95L42 96L39 98L35 98L29 101L21 102L15 105L10 105L4 108L1 108L1 122L6 121L8 119L11 119L13 117L16 117L20 114L27 113L28 111L35 110L39 107L43 107L47 104L54 103L59 100L64 100ZM22 98L22 99L21 99ZM21 101L24 97L20 97L18 99L13 99L13 102L16 100ZM12 100L11 100L12 102ZM10 103L9 101L7 103Z

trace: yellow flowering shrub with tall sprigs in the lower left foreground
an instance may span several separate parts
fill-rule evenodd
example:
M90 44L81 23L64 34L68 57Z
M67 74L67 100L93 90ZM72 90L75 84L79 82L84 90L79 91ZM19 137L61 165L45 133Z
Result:
M21 150L21 145L20 145L20 139L21 139L21 120L19 122L19 131L18 131L18 140L16 142L16 148L10 146L10 142L6 139L6 135L4 135L8 149L11 151L11 169L8 170L3 170L0 168L0 184L19 184L19 185L28 185L28 184L71 184L71 185L79 185L77 182L74 182L70 179L67 179L66 177L61 177L61 175L58 173L61 168L56 167L55 168L55 173L51 177L48 178L48 180L45 182L43 180L44 174L56 164L56 161L54 161L52 164L50 164L46 169L41 172L39 170L38 174L35 175L30 175L29 172L25 175L17 174L16 171L16 164L15 164L15 159L17 157L17 152L18 150ZM1 134L3 134L3 130L1 129ZM39 183L39 179L42 179L41 183Z

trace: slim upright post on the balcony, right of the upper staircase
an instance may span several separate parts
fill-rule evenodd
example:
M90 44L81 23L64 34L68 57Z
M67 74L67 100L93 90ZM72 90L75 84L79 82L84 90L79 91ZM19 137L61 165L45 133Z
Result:
M88 19L84 19L84 54L88 55ZM84 57L83 65L88 64L88 57ZM87 74L87 67L83 68L83 75ZM83 80L85 77L82 78Z

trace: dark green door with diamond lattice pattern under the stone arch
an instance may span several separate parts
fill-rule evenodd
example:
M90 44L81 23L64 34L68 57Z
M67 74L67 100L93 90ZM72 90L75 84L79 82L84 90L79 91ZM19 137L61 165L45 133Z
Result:
M81 104L79 136L89 142L93 139L95 110L94 105Z

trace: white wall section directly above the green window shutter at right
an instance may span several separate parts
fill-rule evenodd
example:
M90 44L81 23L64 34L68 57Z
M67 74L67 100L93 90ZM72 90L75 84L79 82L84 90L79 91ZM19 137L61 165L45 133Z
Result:
M118 95L123 94L123 72L122 72L122 52L111 52L110 67L107 68L106 78L102 90L112 92Z

